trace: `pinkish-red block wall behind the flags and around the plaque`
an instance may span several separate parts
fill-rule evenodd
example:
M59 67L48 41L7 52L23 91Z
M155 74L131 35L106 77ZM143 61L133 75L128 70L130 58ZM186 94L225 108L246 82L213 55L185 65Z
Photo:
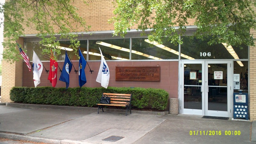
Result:
M62 70L64 62L58 62L60 69ZM78 70L78 62L72 61L76 70ZM142 87L142 88L161 88L169 92L170 98L178 98L178 61L107 61L110 69L109 85L111 87ZM87 83L83 87L101 87L100 83L96 82L96 77L100 68L100 61L88 62L90 68L94 70L91 74L88 65L85 68L85 75ZM43 62L44 67L49 70L50 62ZM160 81L116 81L116 66L160 66ZM59 81L60 69L58 68L58 81L56 87L66 87L65 82ZM49 72L46 73L43 70L41 75L41 83L38 86L52 86L49 80L47 80ZM23 84L22 86L34 87L33 72L29 72L26 64L23 64ZM69 77L69 87L79 87L78 84L78 72L72 72Z

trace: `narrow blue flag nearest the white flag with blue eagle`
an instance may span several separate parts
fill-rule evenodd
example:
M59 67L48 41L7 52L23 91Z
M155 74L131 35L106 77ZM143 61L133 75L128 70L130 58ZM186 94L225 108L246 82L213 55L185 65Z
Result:
M84 69L86 67L86 60L84 59L84 55L79 49L79 68L78 68L78 79L79 79L79 85L80 88L86 83L86 77Z

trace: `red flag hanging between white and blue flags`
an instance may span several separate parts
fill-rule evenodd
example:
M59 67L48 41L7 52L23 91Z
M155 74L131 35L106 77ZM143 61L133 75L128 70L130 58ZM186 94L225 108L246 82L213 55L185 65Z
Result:
M48 76L48 80L50 80L50 83L52 83L52 87L55 87L57 84L57 68L58 68L58 62L53 60L53 56L51 55L50 60L50 73Z

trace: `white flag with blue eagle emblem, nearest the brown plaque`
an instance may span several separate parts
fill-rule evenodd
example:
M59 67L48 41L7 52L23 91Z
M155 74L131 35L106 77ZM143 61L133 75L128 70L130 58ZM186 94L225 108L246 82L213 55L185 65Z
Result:
M100 69L99 69L98 76L96 78L96 82L100 83L102 87L108 88L109 76L110 76L109 68L106 60L104 59L104 56L102 55L101 50L100 50L100 55L101 55Z

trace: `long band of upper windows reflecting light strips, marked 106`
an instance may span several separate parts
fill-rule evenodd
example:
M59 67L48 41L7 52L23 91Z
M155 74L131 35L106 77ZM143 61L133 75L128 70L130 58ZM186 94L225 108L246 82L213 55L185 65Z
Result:
M226 46L226 44L208 45L208 40L190 36L181 37L183 44L180 45L180 59L248 59L248 46ZM88 44L87 44L88 43ZM60 41L62 48L68 48L69 41ZM99 47L105 60L178 60L179 45L174 45L167 40L163 44L150 42L146 37L140 38L113 38L80 40L80 49L87 60L100 60ZM26 42L25 50L28 57L32 58L34 50L40 60L50 60L48 55L42 54L39 42ZM67 51L71 60L78 60L73 51ZM87 54L89 54L87 56ZM65 50L61 50L58 60L64 60Z

